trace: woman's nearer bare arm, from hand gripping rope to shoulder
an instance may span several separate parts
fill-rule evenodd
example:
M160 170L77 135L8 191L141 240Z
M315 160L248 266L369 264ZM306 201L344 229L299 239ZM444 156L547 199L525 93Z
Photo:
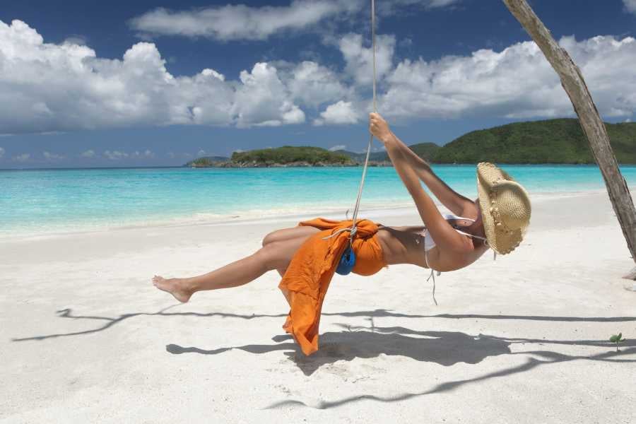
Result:
M466 240L466 237L459 235L442 217L435 203L422 188L416 172L408 165L408 160L402 153L396 137L389 131L387 122L378 114L371 114L370 131L387 148L389 158L408 193L413 197L420 217L435 240L435 244L442 249L454 252L470 252L473 245Z

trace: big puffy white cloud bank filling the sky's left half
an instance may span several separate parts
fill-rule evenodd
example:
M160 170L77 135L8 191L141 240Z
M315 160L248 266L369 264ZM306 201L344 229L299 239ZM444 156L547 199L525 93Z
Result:
M213 69L175 77L151 43L137 43L122 60L100 59L83 45L45 43L20 20L0 21L0 95L2 134L305 121L276 69L267 64L254 65L241 81L226 81ZM260 105L273 102L262 119L253 99Z

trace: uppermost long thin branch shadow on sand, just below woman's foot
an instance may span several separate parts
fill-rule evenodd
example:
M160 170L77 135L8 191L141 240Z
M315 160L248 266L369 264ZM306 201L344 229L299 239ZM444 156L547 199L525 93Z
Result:
M167 310L182 304L171 305L163 308L159 312L131 312L121 314L117 317L100 317L92 315L76 315L73 310L66 308L56 311L60 318L68 319L89 319L103 322L93 329L83 331L71 331L69 333L43 334L40 336L30 336L21 338L11 338L11 341L41 341L47 338L82 336L85 334L93 334L99 331L105 331L112 326L131 319L134 317L221 317L236 319L258 319L258 318L284 318L287 314L232 314L226 312L166 312ZM402 314L400 312L392 312L390 310L377 309L367 311L354 312L323 312L325 316L338 317L369 317L369 318L444 318L444 319L514 319L514 320L531 320L531 321L549 321L549 322L636 322L636 317L543 317L534 315L486 315L486 314Z

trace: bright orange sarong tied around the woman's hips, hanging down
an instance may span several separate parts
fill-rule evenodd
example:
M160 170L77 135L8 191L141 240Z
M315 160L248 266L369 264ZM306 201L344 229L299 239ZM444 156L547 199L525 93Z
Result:
M283 329L293 334L305 355L318 350L318 325L322 302L338 262L348 246L349 232L343 231L327 240L334 232L351 227L351 220L329 220L316 218L298 225L308 225L321 230L312 235L294 254L278 285L283 292L288 290L291 310ZM382 247L377 241L377 225L370 220L357 222L358 233L353 239L355 266L353 273L370 276L385 265Z

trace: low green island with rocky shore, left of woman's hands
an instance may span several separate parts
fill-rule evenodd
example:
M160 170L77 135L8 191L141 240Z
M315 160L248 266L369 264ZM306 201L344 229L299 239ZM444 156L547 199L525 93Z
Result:
M247 152L232 153L232 163L237 165L353 165L347 155L310 146L283 146Z

